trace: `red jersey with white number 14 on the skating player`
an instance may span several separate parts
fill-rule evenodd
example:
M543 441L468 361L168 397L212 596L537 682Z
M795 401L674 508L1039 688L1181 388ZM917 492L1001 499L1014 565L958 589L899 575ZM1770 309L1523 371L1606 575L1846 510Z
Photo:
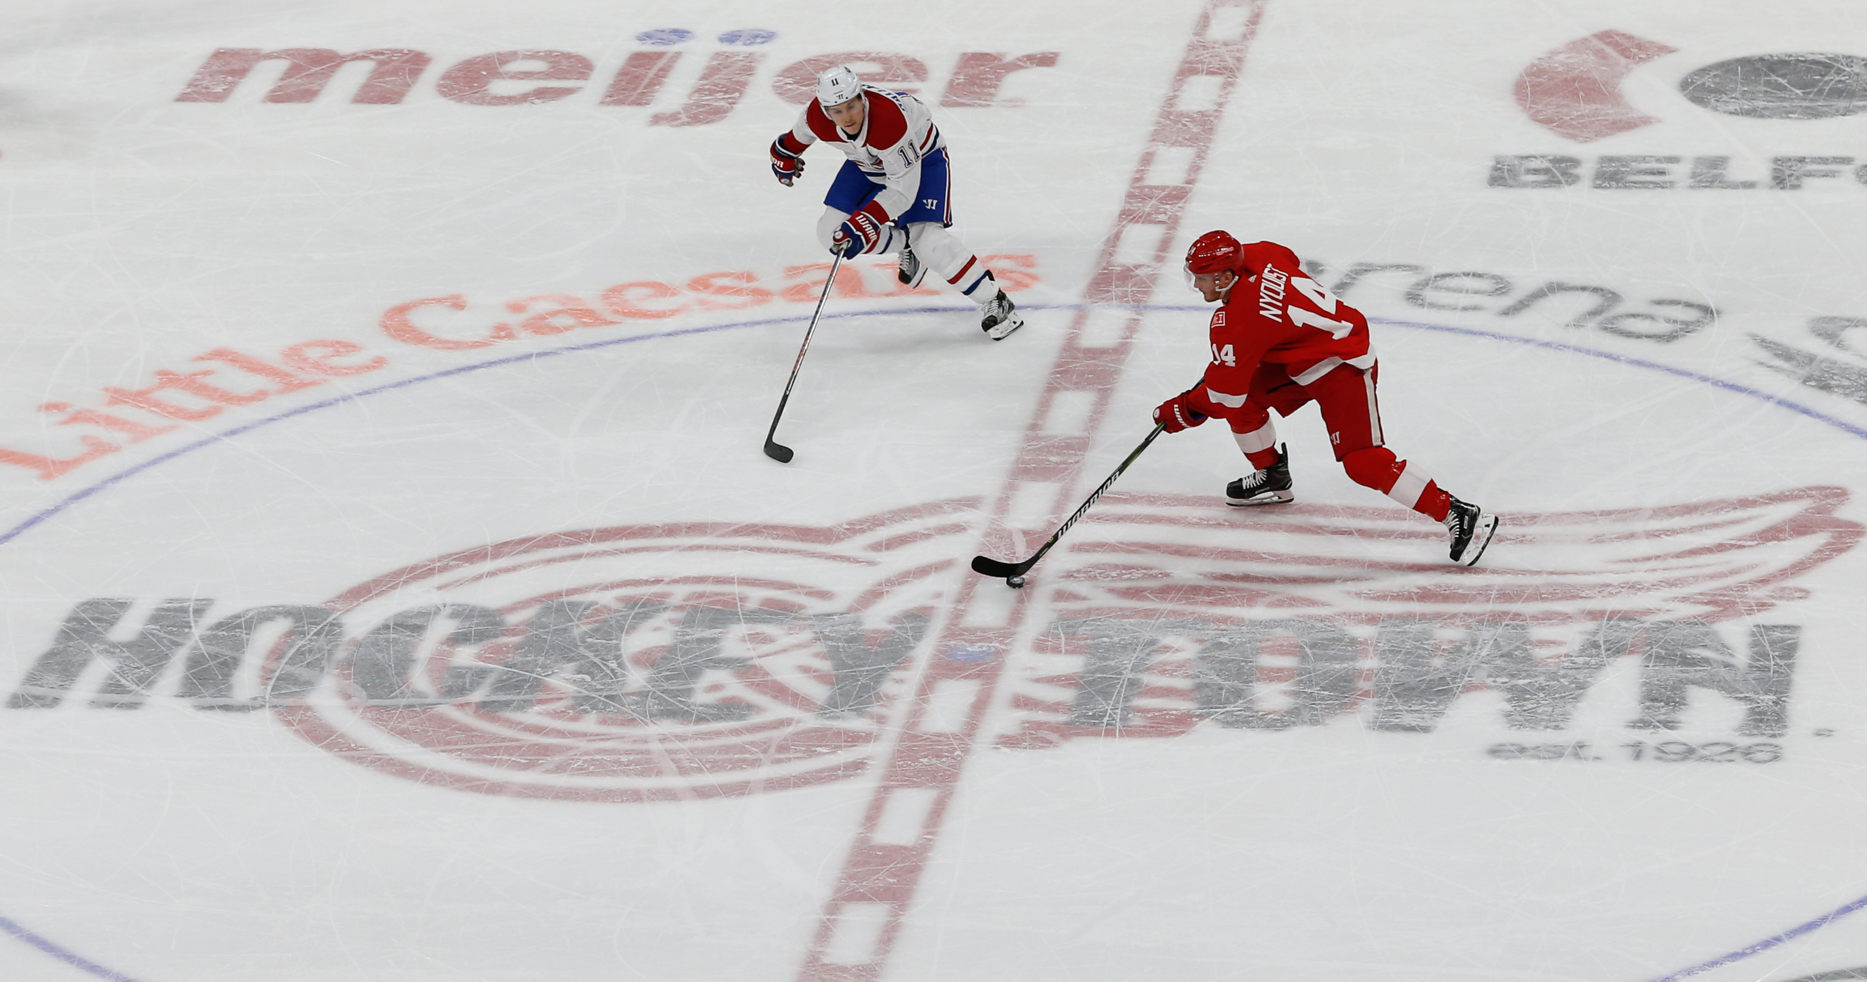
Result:
M1333 368L1374 366L1369 321L1311 280L1296 252L1277 243L1245 243L1245 267L1212 314L1212 364L1187 403L1208 416L1245 405L1258 366L1275 366L1309 385Z

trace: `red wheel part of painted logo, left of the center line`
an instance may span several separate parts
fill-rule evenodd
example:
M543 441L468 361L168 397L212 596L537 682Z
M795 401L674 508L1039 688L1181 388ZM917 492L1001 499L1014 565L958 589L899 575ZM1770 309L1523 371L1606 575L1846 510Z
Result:
M943 599L930 577L963 551L962 508L441 556L330 601L358 633L327 685L276 711L357 764L484 793L657 801L853 777Z

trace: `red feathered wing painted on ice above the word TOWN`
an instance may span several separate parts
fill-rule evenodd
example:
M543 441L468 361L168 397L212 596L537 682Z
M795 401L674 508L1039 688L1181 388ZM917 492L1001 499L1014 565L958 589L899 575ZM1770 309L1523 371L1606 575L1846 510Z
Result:
M1841 487L1660 508L1510 513L1494 556L1447 568L1445 532L1395 508L1296 504L1238 521L1204 497L1109 495L1070 543L1060 609L1281 610L1327 620L1729 620L1805 592L1852 549ZM1268 513L1266 513L1268 512ZM1057 579L1057 568L1051 568Z

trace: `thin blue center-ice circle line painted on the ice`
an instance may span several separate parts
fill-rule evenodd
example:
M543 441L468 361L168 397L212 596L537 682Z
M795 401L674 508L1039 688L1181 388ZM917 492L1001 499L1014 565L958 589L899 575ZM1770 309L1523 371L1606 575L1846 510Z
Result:
M1072 310L1072 312L1075 312L1075 310L1109 310L1109 308L1111 308L1109 304L1025 304L1023 306L1023 310ZM1150 314L1156 314L1156 312L1158 314L1180 314L1180 312L1204 312L1204 310L1208 310L1206 306L1189 306L1189 304L1141 304L1141 306L1113 306L1113 308L1115 310L1150 312ZM874 316L896 316L896 317L900 317L900 316L920 316L920 314L958 314L958 312L965 312L965 310L969 310L969 308L954 308L954 306L874 308L874 310L857 310L857 312L846 312L846 314L825 314L825 316L821 316L821 319L825 319L825 321L836 321L836 319L874 317ZM13 528L7 528L6 532L0 532L0 545L6 545L9 541L17 540L19 536L26 534L34 526L50 521L52 517L56 517L58 513L69 510L71 506L75 506L75 504L78 504L78 502L82 502L82 500L86 500L86 498L90 498L93 495L99 495L99 493L103 493L103 491L106 491L110 487L116 487L119 484L127 482L129 478L133 478L136 474L142 474L144 470L151 470L155 467L161 467L161 465L164 465L164 463L168 463L168 461L172 461L175 457L183 457L183 456L192 454L196 450L202 450L202 448L207 448L207 446L213 446L213 444L218 444L218 442L228 442L233 437L241 437L241 435L252 433L254 429L261 429L261 428L273 426L276 422L284 422L284 420L291 420L291 418L304 416L304 414L310 414L310 413L317 413L321 409L330 409L330 407L336 407L336 405L358 401L358 400L364 400L364 398L370 398L370 396L379 396L383 392L394 392L394 390L400 390L400 388L409 388L409 386L422 385L422 383L431 383L431 381L439 381L439 379L452 379L456 375L467 375L467 373L472 373L472 372L484 372L484 370L489 370L489 368L502 368L502 366L508 366L508 364L536 362L536 360L543 360L543 358L556 358L556 357L562 357L562 355L577 355L577 353L583 353L583 351L599 351L599 349L605 349L605 347L616 347L616 345L635 344L635 342L652 342L652 340L659 340L659 338L681 338L681 336L691 336L691 334L713 334L713 332L719 332L719 330L739 330L739 329L749 329L749 327L773 327L773 325L786 325L786 323L803 323L803 321L808 321L808 319L810 317L805 317L805 316L793 316L793 317L762 317L762 319L754 319L754 321L732 321L732 323L723 323L723 325L687 327L687 329L680 329L680 330L661 330L661 332L653 332L653 334L631 334L627 338L609 338L609 340L601 340L601 342L586 342L586 344L553 347L553 349L545 349L545 351L526 351L523 355L508 355L504 358L491 358L491 360L485 360L485 362L474 362L474 364L446 368L446 370L441 370L441 372L429 372L426 375L414 375L411 379L401 379L401 381L385 383L385 385L377 385L377 386L370 386L370 388L360 388L357 392L347 392L344 396L332 396L329 400L319 400L319 401L314 401L314 403L299 405L299 407L288 409L284 413L274 413L271 416L265 416L265 418L260 418L260 420L254 420L254 422L248 422L248 424L235 426L235 428L226 429L222 433L202 437L202 439L198 439L198 441L194 441L190 444L179 446L179 448L170 450L166 454L159 454L155 457L149 457L147 461L142 461L138 465L127 467L127 469L123 469L123 470L119 470L119 472L116 472L116 474L112 474L112 476L97 482L97 484L91 484L91 485L82 487L78 491L73 491L71 495L65 495L63 498L60 498L58 502L50 504L49 508L45 508L45 510L30 515L26 521L15 525ZM1802 416L1807 416L1811 420L1828 424L1828 426L1832 426L1835 429L1841 429L1843 433L1850 433L1854 437L1867 439L1867 428L1860 428L1860 426L1850 424L1846 420L1830 416L1828 413L1822 413L1822 411L1817 411L1813 407L1802 405L1802 403L1798 403L1794 400L1785 400L1781 396L1774 396L1770 392L1762 392L1762 390L1751 388L1748 385L1733 383L1733 381L1727 381L1727 379L1718 379L1714 375L1705 375L1701 372L1690 372L1690 370L1684 370L1684 368L1675 368L1675 366L1654 362L1654 360L1647 360L1647 358L1635 358L1635 357L1630 357L1630 355L1619 355L1619 353L1613 353L1613 351L1602 351L1602 349L1583 347L1583 345L1574 345L1574 344L1565 344L1565 342L1546 342L1546 340L1523 338L1523 336L1516 336L1516 334L1499 334L1495 330L1479 330L1479 329L1469 329L1469 327L1432 325L1432 323L1419 323L1419 321L1397 321L1397 319L1385 319L1385 317L1369 317L1369 323L1370 325L1378 323L1378 325L1387 325L1387 327L1411 327L1411 329L1417 329L1417 330L1436 330L1436 332L1441 332L1441 334L1462 334L1462 336L1467 336L1467 338L1484 338L1484 340L1494 340L1494 342L1522 344L1522 345L1531 345L1531 347L1542 347L1542 349L1548 349L1548 351L1563 351L1563 353L1568 353L1568 355L1585 355L1585 357L1591 357L1591 358L1602 358L1602 360L1619 362L1619 364L1626 364L1626 366L1634 366L1634 368L1647 368L1647 370L1660 372L1660 373L1665 373L1665 375L1675 375L1675 377L1680 377L1680 379L1690 379L1690 381L1695 381L1695 383L1710 385L1714 388L1723 388L1725 392L1734 392L1734 394L1740 394L1740 396L1749 396L1753 400L1761 400L1761 401L1766 401L1770 405L1777 405L1777 407L1789 409L1790 413L1798 413ZM1779 945L1783 945L1787 941L1802 937L1802 935L1805 935L1809 932L1820 930L1822 926L1826 926L1826 924L1830 924L1830 922L1833 922L1833 920L1837 920L1841 917L1846 917L1850 913L1856 913L1856 911L1860 911L1863 907L1867 907L1867 896L1861 896L1860 900L1854 900L1850 904L1843 904L1841 907L1835 907L1835 909L1832 909L1832 911L1828 911L1828 913L1824 913L1820 917L1815 917L1815 919L1811 919L1807 922L1802 922L1802 924L1798 924L1794 928L1789 928L1787 932L1770 935L1770 937L1766 937L1762 941L1757 941L1753 945L1748 945L1744 948L1736 948L1733 952L1727 952L1727 954L1721 954L1718 958L1712 958L1708 961L1701 961L1697 965L1675 971L1671 975L1663 975L1663 976L1652 978L1649 982L1678 982L1680 978L1688 978L1688 976L1693 976L1693 975L1699 975L1699 973L1706 973L1706 971L1712 971L1712 969L1718 969L1718 967L1723 967L1723 965L1731 965L1731 963L1742 961L1744 958L1766 952L1766 950L1776 948L1776 947L1779 947ZM97 978L105 978L108 982L136 982L134 978L131 978L131 976L127 976L123 973L118 973L118 971L108 969L105 965L99 965L99 963L95 963L95 961L80 956L80 954L77 954L77 952L73 952L73 950L69 950L69 948L65 948L65 947L62 947L62 945L58 945L58 943L43 937L43 935L39 935L39 933L34 933L32 930L24 928L17 920L7 919L4 915L0 915L0 932L9 933L9 935L17 937L19 941L22 941L26 945L32 945L34 948L39 948L41 952L45 952L45 954L49 954L49 956L60 960L60 961L63 961L65 965L71 965L71 967L75 967L78 971L84 971L84 973L90 973L90 975L93 975Z

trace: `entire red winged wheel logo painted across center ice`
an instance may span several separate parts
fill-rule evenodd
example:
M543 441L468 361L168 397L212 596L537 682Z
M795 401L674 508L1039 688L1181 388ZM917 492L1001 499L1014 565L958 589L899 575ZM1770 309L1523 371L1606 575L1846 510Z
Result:
M1843 502L1807 487L1518 513L1466 569L1434 562L1439 528L1395 508L1238 513L1210 497L1111 495L1032 584L1004 743L1081 736L1085 624L1161 635L1124 734L1167 736L1210 719L1193 696L1197 646L1171 638L1187 624L1301 618L1346 637L1391 618L1507 616L1563 635L1606 618L1755 616L1860 541L1835 517ZM935 502L836 526L631 525L441 556L336 597L353 631L344 657L274 711L357 764L484 793L655 801L855 777L980 530L976 502Z

